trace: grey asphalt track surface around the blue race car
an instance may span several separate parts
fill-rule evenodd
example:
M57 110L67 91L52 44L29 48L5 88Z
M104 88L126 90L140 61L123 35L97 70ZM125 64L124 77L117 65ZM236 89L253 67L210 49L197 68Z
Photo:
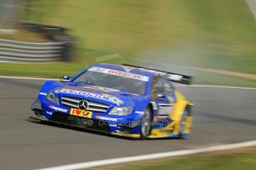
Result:
M255 89L177 86L195 104L191 136L129 140L28 119L44 82L0 78L0 169L39 169L256 139Z

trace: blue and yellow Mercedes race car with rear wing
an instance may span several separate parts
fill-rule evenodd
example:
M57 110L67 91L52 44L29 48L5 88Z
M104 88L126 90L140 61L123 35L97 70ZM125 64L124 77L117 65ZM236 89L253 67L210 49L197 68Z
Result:
M60 83L47 81L30 118L134 138L187 137L192 103L172 81L191 76L128 64L96 64Z

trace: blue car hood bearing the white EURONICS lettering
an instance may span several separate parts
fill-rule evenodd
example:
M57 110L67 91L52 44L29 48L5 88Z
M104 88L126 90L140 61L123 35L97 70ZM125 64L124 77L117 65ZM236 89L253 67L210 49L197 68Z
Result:
M52 90L60 99L62 96L68 96L105 103L109 106L134 106L134 103L142 102L144 99L142 95L136 95L130 92L123 92L102 86L92 86L72 82L61 85L62 86L57 86Z

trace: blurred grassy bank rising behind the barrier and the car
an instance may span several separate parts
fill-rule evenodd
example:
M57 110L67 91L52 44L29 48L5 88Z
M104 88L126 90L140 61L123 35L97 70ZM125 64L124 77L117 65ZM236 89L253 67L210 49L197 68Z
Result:
M122 46L137 58L256 73L246 0L43 0L40 9L41 22L70 28L79 48Z

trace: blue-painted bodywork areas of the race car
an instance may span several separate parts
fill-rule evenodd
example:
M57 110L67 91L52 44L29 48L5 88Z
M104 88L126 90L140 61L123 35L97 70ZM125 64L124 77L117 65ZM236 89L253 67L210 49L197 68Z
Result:
M100 103L105 103L108 104L110 106L110 108L108 109L107 112L105 113L97 113L97 112L93 112L92 115L92 119L97 119L97 116L104 116L105 118L116 118L116 121L110 121L110 120L105 120L108 121L108 123L111 124L111 126L109 127L111 132L115 132L115 133L128 133L128 134L140 134L140 125L137 126L134 130L132 131L125 131L122 129L122 126L131 126L131 124L129 123L136 123L136 122L140 122L140 120L142 119L143 116L143 112L145 112L145 109L151 104L151 95L150 95L150 91L151 91L151 84L152 84L152 79L155 76L155 73L152 72L146 72L146 71L142 71L141 69L129 69L126 70L124 67L119 66L119 65L111 65L111 64L96 64L93 67L102 67L102 68L106 68L106 69L114 69L114 70L118 70L118 71L122 71L122 72L130 72L130 73L134 73L137 75L144 75L148 77L148 82L147 82L147 88L146 88L146 92L145 95L134 95L134 94L129 94L128 92L122 92L122 91L115 91L115 92L102 92L102 90L100 89L86 89L86 86L92 87L89 84L80 84L80 83L74 83L73 80L75 80L79 75L82 75L84 72L86 72L88 69L90 69L91 67L89 67L88 69L83 70L82 72L80 72L78 75L76 75L74 78L72 78L70 80L70 82L67 83L59 83L59 82L55 82L55 81L47 81L43 86L42 89L40 90L40 94L39 94L39 101L42 104L42 109L44 110L43 113L39 114L36 113L36 115L39 115L42 118L46 118L47 120L50 120L52 114L54 112L56 112L56 109L51 109L49 106L55 106L57 108L60 109L64 109L66 110L66 112L62 112L63 114L70 114L70 108L63 106L61 103L61 100L59 100L60 104L56 104L56 103L51 103L50 101L46 100L46 95L48 92L54 92L56 96L60 98L62 98L63 95L65 96L69 96L69 97L78 97L78 98L84 98L84 99L88 99L91 101L96 101L96 102L100 102ZM171 84L171 82L170 82ZM172 84L171 84L172 86ZM95 86L93 86L95 87ZM108 94L111 96L114 96L116 98L119 98L120 100L123 101L123 103L117 105L116 103L111 103L110 101L102 101L101 99L98 98L90 98L90 97L85 97L82 95L74 95L74 94L63 94L63 93L56 93L56 90L58 89L74 89L74 90L79 90L79 91L83 91L83 92L93 92L96 94ZM127 95L129 94L129 95ZM168 96L173 98L174 103L176 102L177 98L174 94ZM159 102L157 102L158 104ZM163 103L163 102L162 102ZM166 101L164 101L164 103L170 103L170 101L168 101L168 99L166 99ZM111 109L113 109L114 107L121 107L121 106L133 106L134 110L131 113L131 115L126 115L126 116L118 116L118 115L108 115L108 112L111 111ZM58 111L59 112L59 111ZM140 112L140 113L137 113ZM159 114L159 106L157 106L157 109L154 109L153 115L158 115ZM153 117L152 117L152 121L153 121ZM168 120L169 123L171 123L172 120ZM166 125L165 125L166 126ZM160 126L156 126L154 127L154 129L160 129L163 128L165 126L162 126L160 124ZM170 137L174 137L174 136L170 136Z

